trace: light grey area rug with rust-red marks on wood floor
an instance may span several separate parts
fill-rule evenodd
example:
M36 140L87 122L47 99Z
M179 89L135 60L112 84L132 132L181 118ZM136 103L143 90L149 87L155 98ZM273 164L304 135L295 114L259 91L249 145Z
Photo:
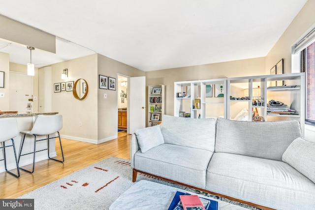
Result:
M19 198L34 199L35 210L108 210L110 205L134 184L131 180L132 168L130 161L109 157L62 179L37 188ZM155 181L214 197L248 209L258 210L245 204L141 173L138 173L137 180Z

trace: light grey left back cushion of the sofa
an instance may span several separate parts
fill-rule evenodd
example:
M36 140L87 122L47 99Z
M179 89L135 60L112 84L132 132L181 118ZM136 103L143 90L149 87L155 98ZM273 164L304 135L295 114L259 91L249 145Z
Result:
M167 144L214 151L216 119L192 119L163 115L160 129Z

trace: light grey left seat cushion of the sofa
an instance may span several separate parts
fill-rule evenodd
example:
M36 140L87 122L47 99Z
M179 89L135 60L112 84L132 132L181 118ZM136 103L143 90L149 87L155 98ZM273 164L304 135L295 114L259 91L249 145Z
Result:
M134 155L134 166L143 172L204 188L213 152L172 144L161 144Z

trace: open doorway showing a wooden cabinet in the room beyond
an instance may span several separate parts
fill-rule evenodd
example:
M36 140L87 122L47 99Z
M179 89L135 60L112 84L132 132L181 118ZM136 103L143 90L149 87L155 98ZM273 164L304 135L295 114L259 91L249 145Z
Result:
M118 75L118 133L127 133L128 78Z

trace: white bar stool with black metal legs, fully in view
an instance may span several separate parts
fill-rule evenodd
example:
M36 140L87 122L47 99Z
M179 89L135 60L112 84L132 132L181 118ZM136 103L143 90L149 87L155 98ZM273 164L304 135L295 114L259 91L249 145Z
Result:
M33 173L34 172L35 153L38 152L38 151L43 151L43 150L36 151L36 142L44 141L44 140L47 140L47 149L44 149L44 150L48 150L48 157L49 157L49 159L56 160L56 161L59 161L59 162L63 163L64 157L62 158L62 160L57 160L55 158L51 158L50 155L49 155L49 140L50 139L54 139L54 138L59 138L61 153L62 153L62 156L63 156L63 146L61 144L61 139L60 139L60 134L59 134L59 131L62 128L63 128L63 116L62 115L39 115L37 117L37 119L35 120L35 122L34 122L32 130L22 131L21 133L24 133L24 137L23 137L23 141L22 141L22 146L21 146L21 151L20 151L18 163L20 163L21 156L28 155L28 154L33 154L33 170L32 171L28 171L28 170L26 170L26 169L24 169L22 167L20 167L20 169L22 169L23 171L29 172L29 173ZM58 136L56 136L56 133L58 133ZM25 136L26 135L33 135L34 136L34 150L32 152L22 154L23 145L24 145L24 142L25 142ZM47 135L46 139L36 140L36 136L44 136L44 135ZM55 136L54 137L49 137L49 135L55 135Z

